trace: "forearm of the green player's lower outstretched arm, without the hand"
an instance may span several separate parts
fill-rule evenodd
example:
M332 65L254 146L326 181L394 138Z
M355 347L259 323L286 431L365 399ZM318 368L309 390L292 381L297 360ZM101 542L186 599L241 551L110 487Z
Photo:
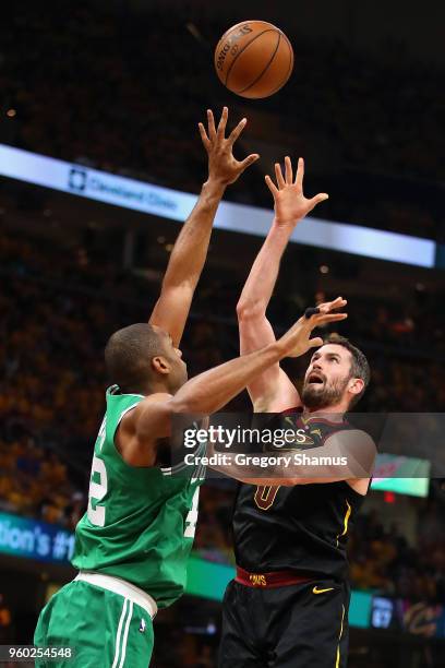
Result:
M239 394L258 373L285 356L279 342L205 371L185 383L175 395L173 413L211 414Z

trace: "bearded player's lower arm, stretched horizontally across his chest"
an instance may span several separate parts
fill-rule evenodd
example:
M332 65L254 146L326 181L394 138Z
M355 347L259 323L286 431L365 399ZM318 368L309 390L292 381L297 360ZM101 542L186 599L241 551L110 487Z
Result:
M215 450L208 449L207 454L215 454ZM261 454L264 456L265 453ZM232 461L231 464L212 465L212 468L250 485L325 485L340 480L369 479L374 467L376 449L368 433L351 429L334 433L321 448L298 452L275 450L273 455L279 455L281 463L261 467ZM285 457L289 457L288 462Z

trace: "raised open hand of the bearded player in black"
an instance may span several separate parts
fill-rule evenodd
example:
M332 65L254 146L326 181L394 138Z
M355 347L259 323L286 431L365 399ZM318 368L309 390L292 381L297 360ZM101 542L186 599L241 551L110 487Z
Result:
M293 180L292 163L289 156L285 158L285 176L281 166L275 164L275 176L277 184L269 176L265 177L267 188L270 190L275 202L275 220L278 225L297 225L320 202L328 199L328 194L321 192L314 198L308 199L303 194L304 160L299 158L297 175Z

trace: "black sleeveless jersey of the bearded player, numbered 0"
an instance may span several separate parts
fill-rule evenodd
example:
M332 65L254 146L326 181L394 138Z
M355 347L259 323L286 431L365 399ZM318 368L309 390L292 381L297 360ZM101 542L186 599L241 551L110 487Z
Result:
M289 422L289 415L279 416ZM306 441L294 450L320 448L347 422L310 418ZM300 439L301 441L301 439ZM346 481L286 486L240 485L233 513L238 565L253 573L298 570L342 578L348 571L346 544L364 497Z

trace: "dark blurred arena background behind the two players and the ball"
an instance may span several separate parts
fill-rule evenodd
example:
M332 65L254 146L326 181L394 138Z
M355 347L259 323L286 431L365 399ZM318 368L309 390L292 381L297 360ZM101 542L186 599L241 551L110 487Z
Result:
M214 70L219 37L246 19L294 49L267 99L229 93ZM206 179L207 108L219 118L227 105L230 127L245 116L236 155L261 159L216 218L182 344L190 375L239 354L234 309L273 218L264 175L289 154L305 158L308 196L329 200L286 252L276 331L344 295L336 331L372 369L360 410L444 409L444 25L433 0L2 3L0 644L31 644L45 601L75 575L104 346L155 303ZM298 383L306 363L285 368ZM249 410L248 394L230 406ZM383 479L349 539L348 665L443 666L443 480ZM234 488L201 489L187 594L156 617L154 668L216 666Z

